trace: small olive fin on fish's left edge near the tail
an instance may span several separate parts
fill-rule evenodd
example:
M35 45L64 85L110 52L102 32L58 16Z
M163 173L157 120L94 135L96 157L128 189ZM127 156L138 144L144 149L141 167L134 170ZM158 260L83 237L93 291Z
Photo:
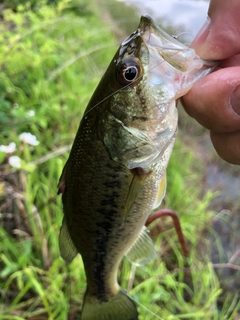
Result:
M59 235L59 249L60 255L67 263L72 262L72 260L78 254L77 249L72 242L70 234L68 232L68 227L66 223L66 218L63 218L62 227Z

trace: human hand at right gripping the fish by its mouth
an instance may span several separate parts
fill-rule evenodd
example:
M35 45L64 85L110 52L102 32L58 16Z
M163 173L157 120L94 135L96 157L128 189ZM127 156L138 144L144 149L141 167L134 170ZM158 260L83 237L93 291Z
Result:
M224 160L240 165L240 2L212 0L209 18L191 47L219 68L199 80L182 99L187 113L210 130Z

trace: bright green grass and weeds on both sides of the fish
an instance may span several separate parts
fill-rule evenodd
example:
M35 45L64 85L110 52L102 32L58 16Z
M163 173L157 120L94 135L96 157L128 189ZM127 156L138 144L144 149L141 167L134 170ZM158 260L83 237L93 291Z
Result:
M79 314L85 274L80 256L69 266L59 256L57 183L83 110L117 48L96 4L37 3L34 10L26 2L1 13L0 145L15 143L12 153L0 151L2 320L66 320ZM23 132L37 141L21 140ZM14 166L10 156L18 157L11 158ZM183 258L172 224L165 221L156 237L158 258L136 270L130 291L142 304L142 320L234 319L240 308L237 297L229 297L218 311L218 279L208 257L199 255L213 196L201 195L200 180L200 164L178 141L164 206L180 215L190 255ZM124 289L131 287L131 274L124 260L119 270Z

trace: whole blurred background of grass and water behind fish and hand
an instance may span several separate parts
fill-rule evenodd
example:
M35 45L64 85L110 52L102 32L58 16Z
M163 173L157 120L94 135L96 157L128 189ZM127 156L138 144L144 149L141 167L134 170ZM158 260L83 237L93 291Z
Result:
M190 44L208 1L0 1L0 319L80 318L81 257L59 256L57 184L81 116L115 51L151 15ZM162 208L151 227L158 257L119 282L140 319L239 319L239 167L216 155L207 130L178 105L179 134ZM179 161L179 159L181 159Z

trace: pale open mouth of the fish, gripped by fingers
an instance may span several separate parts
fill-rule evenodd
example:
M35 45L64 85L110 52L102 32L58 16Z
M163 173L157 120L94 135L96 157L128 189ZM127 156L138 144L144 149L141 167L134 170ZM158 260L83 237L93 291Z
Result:
M157 86L174 85L175 99L216 66L167 34L148 15L141 17L138 32L149 51L148 81Z

